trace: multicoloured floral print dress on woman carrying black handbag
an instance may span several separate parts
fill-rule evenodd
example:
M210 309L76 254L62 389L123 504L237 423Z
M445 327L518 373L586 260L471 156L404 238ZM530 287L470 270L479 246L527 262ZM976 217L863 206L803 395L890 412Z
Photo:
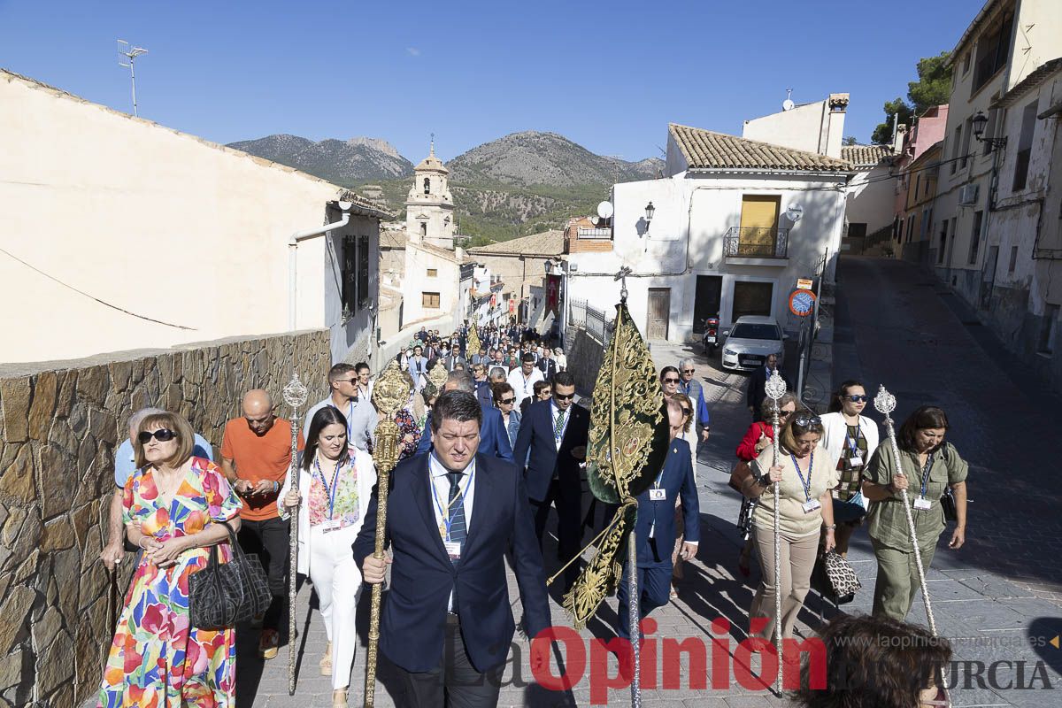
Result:
M139 521L144 535L165 541L237 516L240 501L221 468L192 457L169 504L158 499L152 469L125 483L123 518ZM219 559L233 555L227 541ZM236 632L190 626L188 577L207 565L210 551L182 553L159 568L141 558L125 598L103 671L99 705L105 708L228 708L235 705Z

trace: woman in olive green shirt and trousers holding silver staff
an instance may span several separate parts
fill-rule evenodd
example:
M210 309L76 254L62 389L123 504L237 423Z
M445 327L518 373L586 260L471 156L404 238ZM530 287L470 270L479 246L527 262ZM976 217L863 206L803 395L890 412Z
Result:
M870 500L868 532L877 557L874 615L903 621L919 591L918 568L911 533L904 513L902 490L907 489L922 553L923 572L929 570L937 540L944 531L940 498L945 487L955 494L957 521L948 548L958 549L966 538L966 471L969 465L950 443L944 442L947 416L935 405L912 413L896 433L901 469L889 445L880 445L863 469L863 496Z

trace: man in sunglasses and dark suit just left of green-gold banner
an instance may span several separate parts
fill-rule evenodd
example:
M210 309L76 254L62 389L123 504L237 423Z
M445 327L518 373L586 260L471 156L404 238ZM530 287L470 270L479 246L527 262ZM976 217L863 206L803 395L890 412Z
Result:
M534 513L534 532L539 547L549 507L556 504L558 552L563 563L580 550L582 462L586 459L590 427L589 412L575 405L575 378L568 372L558 373L553 377L552 397L532 403L520 419L520 432L513 449L516 460L528 460L528 501ZM565 588L570 588L578 576L577 562L564 571Z

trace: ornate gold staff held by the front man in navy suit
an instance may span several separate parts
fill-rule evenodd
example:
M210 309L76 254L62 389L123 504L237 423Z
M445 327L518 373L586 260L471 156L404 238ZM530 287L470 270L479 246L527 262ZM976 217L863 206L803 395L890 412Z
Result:
M439 368L436 366L436 368ZM445 370L445 369L444 369ZM445 374L444 374L445 376ZM376 426L376 446L373 462L376 464L376 538L373 557L383 559L387 540L388 487L391 470L398 462L400 431L395 416L409 400L410 386L406 376L392 360L373 386L373 403L379 411L380 421ZM376 655L380 641L380 598L383 584L373 585L373 602L369 615L369 652L365 655L365 707L372 708L376 701Z

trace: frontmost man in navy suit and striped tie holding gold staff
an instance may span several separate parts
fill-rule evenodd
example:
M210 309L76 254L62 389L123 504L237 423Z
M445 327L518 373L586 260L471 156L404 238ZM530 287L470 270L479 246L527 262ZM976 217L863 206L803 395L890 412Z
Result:
M366 583L382 583L388 564L394 567L380 651L405 684L406 705L497 705L515 628L507 554L528 637L550 626L520 470L476 454L481 416L473 395L440 395L431 412L435 449L406 460L391 476L386 529L391 558L373 557L376 487L354 542Z

